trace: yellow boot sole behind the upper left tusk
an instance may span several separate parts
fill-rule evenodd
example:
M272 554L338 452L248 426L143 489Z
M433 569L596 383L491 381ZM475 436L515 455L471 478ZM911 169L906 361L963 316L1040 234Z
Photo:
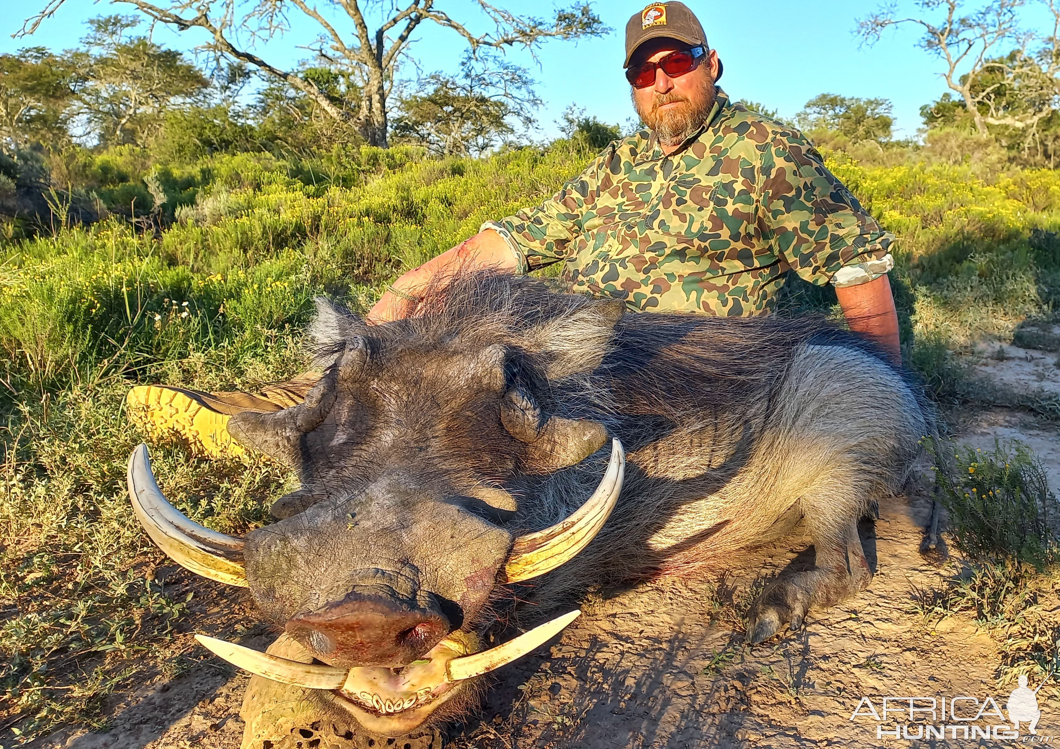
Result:
M198 458L231 458L246 450L228 433L231 415L207 405L208 393L140 385L125 397L129 417L151 438L179 435Z

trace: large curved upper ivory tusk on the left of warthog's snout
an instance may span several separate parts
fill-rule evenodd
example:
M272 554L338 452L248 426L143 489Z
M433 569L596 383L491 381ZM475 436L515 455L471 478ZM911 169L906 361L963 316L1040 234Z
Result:
M192 522L170 504L151 470L146 445L129 456L128 485L132 512L166 556L204 577L246 587L243 541Z

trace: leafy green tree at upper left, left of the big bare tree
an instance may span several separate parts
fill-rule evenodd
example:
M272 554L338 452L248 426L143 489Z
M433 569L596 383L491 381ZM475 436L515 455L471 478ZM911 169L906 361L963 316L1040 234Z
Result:
M202 93L210 82L175 50L146 36L130 35L136 16L103 16L88 21L86 51L72 55L85 79L74 104L106 144L143 144L158 132L165 112Z

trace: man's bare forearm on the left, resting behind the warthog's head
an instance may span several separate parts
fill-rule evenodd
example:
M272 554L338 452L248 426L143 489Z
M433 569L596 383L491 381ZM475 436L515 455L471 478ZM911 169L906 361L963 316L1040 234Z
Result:
M481 268L507 273L515 273L519 269L515 252L492 229L480 231L402 275L379 297L379 301L368 311L367 320L374 325L410 317L416 314L422 292L431 282L444 287L447 284L446 277L461 270Z

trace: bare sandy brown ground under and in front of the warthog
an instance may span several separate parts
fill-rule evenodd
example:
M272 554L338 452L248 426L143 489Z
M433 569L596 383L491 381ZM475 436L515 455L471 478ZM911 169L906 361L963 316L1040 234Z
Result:
M1020 364L1019 371L1009 369L1011 362ZM1023 363L1034 362L1013 357L978 365L1000 372L999 379L1031 388L1058 376L1046 372L1039 379L1037 364L1027 370ZM1060 486L1055 425L1005 410L957 414L957 425L959 441L973 447L991 448L995 438L1027 442L1044 463L1050 485ZM929 509L923 491L884 503L880 519L861 528L876 571L868 590L812 617L796 636L757 647L743 644L739 612L763 579L812 560L805 539L759 550L713 576L654 582L596 599L549 645L499 671L480 713L449 728L448 745L781 749L1008 744L1000 737L965 739L960 728L952 738L947 732L943 741L878 737L878 726L894 731L899 714L891 712L878 723L863 707L851 717L863 697L878 714L884 696L974 698L974 705L961 702L958 717L966 708L974 712L988 696L1006 708L1013 685L997 683L1000 655L990 637L968 617L951 617L932 627L913 609L914 593L940 587L947 574L918 553ZM264 649L267 641L261 636L247 644ZM124 695L113 707L108 733L60 732L31 746L236 749L247 677L216 660L205 663L192 674ZM1060 742L1057 694L1052 684L1039 694L1038 732ZM895 702L890 705L894 710ZM968 725L926 714L920 720ZM987 713L970 725L1001 723ZM332 745L317 737L289 746L354 744Z

